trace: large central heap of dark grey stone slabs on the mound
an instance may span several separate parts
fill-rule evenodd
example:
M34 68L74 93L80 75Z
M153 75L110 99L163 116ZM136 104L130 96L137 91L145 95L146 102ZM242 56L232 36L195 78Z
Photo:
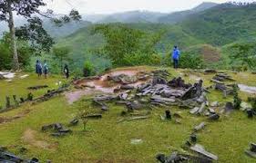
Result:
M148 105L166 106L176 105L193 108L207 101L202 87L202 81L191 85L185 83L182 78L174 78L168 81L170 75L167 71L152 72L153 79L138 85L137 88L129 87L128 90L118 95L102 95L94 98L94 103L106 108L107 101L117 101L125 104L129 111L139 110Z

